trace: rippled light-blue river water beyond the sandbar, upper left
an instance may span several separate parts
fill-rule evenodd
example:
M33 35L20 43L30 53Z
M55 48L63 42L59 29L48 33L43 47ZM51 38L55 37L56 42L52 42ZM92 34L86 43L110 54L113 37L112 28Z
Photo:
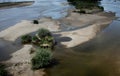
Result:
M0 0L2 2L2 0ZM28 0L3 0L3 1L28 1ZM31 0L30 0L31 1ZM67 15L69 5L66 0L34 0L31 6L17 7L0 10L0 31L15 25L22 20L33 20L41 17L59 19Z

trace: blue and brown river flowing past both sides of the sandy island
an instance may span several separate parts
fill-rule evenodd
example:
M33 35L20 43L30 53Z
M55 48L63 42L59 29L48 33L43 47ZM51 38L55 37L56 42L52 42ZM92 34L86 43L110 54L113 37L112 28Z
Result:
M0 10L0 31L21 20L43 16L59 19L67 15L64 0L38 0L33 5ZM120 0L103 0L106 12L115 12L116 20L94 39L74 48L56 48L60 64L47 69L48 76L120 76Z

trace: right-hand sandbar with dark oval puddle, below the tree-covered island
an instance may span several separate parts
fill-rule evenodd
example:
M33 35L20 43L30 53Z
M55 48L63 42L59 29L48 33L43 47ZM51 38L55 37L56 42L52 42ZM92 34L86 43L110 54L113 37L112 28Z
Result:
M97 13L97 14L83 14L80 15L78 13L71 13L70 16L60 20L62 23L68 26L78 26L80 28L67 31L60 32L61 37L69 37L70 41L62 42L67 48L75 47L79 44L82 44L93 37L101 31L103 27L110 24L112 20L115 18L113 13L108 13L111 16L105 15L106 13Z

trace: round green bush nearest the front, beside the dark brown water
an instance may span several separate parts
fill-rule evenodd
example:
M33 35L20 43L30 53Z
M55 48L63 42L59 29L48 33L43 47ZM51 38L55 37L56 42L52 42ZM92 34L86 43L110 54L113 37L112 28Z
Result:
M50 49L39 48L32 58L32 69L45 68L52 65L53 55Z

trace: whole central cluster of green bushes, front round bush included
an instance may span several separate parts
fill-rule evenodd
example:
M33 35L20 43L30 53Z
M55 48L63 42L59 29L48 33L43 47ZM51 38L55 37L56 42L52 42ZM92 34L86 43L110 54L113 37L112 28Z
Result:
M34 36L24 35L21 39L22 43L31 42L39 47L37 50L30 52L35 52L35 56L31 60L33 70L54 64L51 51L54 47L54 38L49 30L41 28Z

